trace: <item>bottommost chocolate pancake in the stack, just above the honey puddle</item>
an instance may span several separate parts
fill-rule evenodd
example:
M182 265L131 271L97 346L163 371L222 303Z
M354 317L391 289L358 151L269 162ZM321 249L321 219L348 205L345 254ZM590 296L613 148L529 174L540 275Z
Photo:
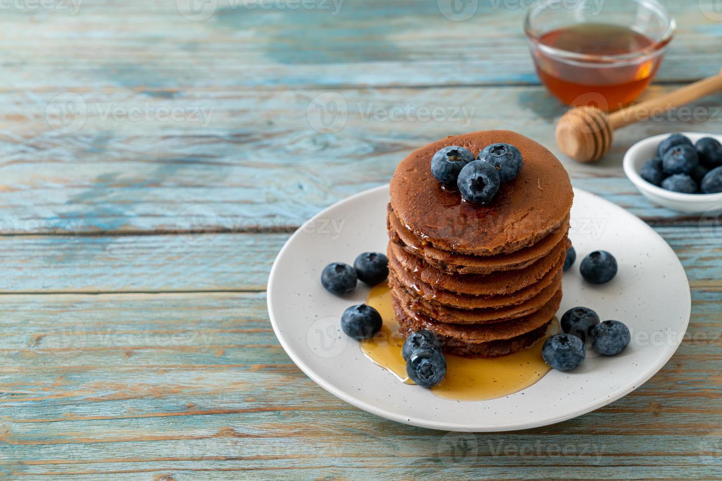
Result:
M407 314L401 306L401 303L399 303L395 297L392 296L391 301L393 304L393 310L396 312L396 319L399 321L399 332L401 332L402 335L408 337L412 332L430 328L425 325L423 321L418 321L416 320L416 317L412 317ZM554 313L552 313L552 316L553 315ZM512 337L506 337L504 339L485 340L480 342L479 340L466 340L464 337L449 337L440 332L437 332L437 334L443 342L443 351L445 353L471 358L490 358L516 353L518 350L528 348L544 336L551 323L552 317L549 317L547 322L528 332Z

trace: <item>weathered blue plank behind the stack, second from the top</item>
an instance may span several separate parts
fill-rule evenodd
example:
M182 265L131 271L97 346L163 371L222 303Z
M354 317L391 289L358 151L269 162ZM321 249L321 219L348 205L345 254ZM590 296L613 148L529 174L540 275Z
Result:
M668 89L655 87L652 93ZM339 131L322 133L310 126L318 125L313 110L306 114L318 91L196 91L169 100L125 90L83 90L87 118L79 131L66 134L48 132L45 107L55 92L24 97L0 92L8 105L26 100L33 105L25 105L22 121L6 118L0 125L5 129L0 233L177 231L197 218L193 209L207 213L207 229L286 231L336 200L388 182L409 151L450 134L510 128L556 152L552 124L564 112L540 87L339 92L349 114ZM653 206L623 179L622 154L658 133L718 131L719 103L714 96L697 102L706 122L680 123L672 115L672 120L632 125L617 133L612 153L599 164L567 159L565 166L575 185L643 219L689 221ZM123 115L113 120L108 109L115 107L151 113L142 122ZM201 107L213 111L206 127L199 117L152 120L163 109L191 115ZM440 109L438 120L425 116L432 109Z

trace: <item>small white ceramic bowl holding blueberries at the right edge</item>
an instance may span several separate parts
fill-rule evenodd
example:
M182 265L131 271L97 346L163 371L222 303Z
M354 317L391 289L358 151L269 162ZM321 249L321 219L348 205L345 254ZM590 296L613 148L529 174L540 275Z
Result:
M709 133L683 133L689 137L692 142L696 142L703 137L716 138L722 142L722 136L715 136ZM657 156L657 146L659 143L669 137L669 135L669 133L665 133L661 136L645 138L643 141L634 144L627 151L624 159L624 168L629 180L632 181L646 198L672 211L696 214L722 213L722 193L682 194L679 192L671 192L671 190L665 190L662 187L652 185L639 175L644 163Z

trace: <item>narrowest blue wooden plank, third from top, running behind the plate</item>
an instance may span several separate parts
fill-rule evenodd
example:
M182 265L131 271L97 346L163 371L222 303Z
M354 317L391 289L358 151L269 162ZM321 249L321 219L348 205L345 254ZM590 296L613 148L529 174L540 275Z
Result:
M722 288L719 226L661 226L657 231L679 256L692 288ZM243 233L0 237L4 267L0 294L263 291L288 237Z

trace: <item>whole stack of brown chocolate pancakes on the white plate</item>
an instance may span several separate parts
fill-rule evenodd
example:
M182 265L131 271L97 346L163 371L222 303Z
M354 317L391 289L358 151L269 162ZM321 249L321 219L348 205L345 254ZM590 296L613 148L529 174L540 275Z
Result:
M474 155L516 146L517 177L484 206L461 200L431 174L445 146ZM391 179L388 268L401 332L429 329L468 357L513 353L539 340L562 299L573 192L557 158L525 136L482 131L444 138L406 157Z

